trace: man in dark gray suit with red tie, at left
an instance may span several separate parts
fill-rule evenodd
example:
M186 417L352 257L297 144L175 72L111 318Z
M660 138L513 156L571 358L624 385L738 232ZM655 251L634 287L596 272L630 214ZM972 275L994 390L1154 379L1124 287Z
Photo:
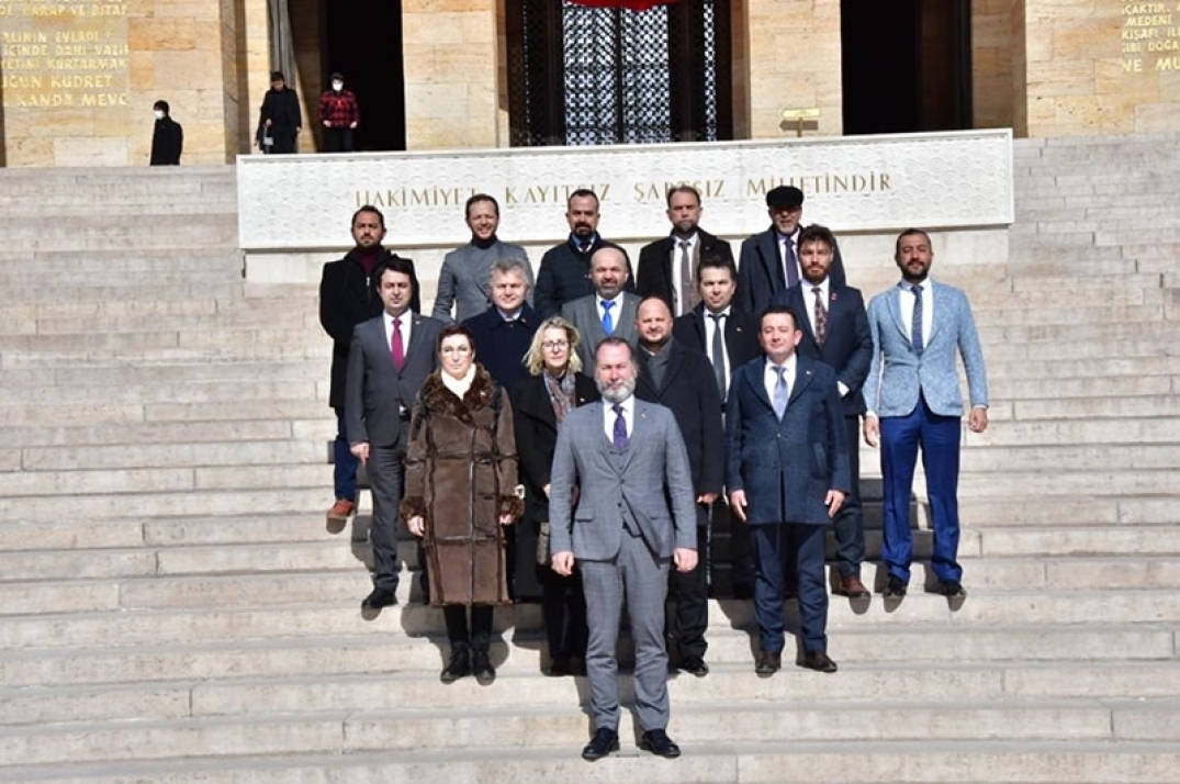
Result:
M391 256L373 275L385 313L353 331L345 385L346 432L353 455L365 464L373 489L373 593L361 612L396 603L396 516L402 460L409 442L409 412L426 377L438 366L442 322L409 309L413 267Z

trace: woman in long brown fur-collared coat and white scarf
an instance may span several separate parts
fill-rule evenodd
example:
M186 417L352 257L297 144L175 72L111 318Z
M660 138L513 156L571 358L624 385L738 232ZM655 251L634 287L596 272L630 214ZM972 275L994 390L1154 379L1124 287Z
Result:
M426 548L431 603L442 607L451 660L441 680L496 679L492 607L509 603L504 533L520 516L509 396L476 362L463 326L439 333L439 370L418 393L401 517ZM467 608L471 608L471 623Z

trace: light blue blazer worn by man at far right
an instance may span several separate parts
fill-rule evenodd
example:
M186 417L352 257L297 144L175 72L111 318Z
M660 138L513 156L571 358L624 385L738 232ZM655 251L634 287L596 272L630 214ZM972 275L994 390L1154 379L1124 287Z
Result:
M865 379L865 405L878 417L905 417L918 405L918 393L930 410L944 417L963 416L956 353L963 355L972 406L988 405L988 375L983 348L966 294L953 286L927 280L933 289L933 320L919 355L902 320L902 289L894 286L868 302L868 332L873 359Z

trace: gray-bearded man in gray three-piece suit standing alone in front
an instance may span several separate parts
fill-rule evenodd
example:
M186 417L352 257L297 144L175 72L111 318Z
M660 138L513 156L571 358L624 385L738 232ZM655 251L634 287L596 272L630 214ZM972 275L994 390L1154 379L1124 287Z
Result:
M550 472L553 570L575 558L586 596L586 673L595 734L582 750L595 760L618 750L618 622L627 603L635 641L640 747L678 757L668 737L664 599L668 569L696 567L696 510L688 453L671 412L635 399L635 349L621 338L598 346L602 403L568 413ZM577 489L577 505L570 499ZM668 504L671 503L669 514Z

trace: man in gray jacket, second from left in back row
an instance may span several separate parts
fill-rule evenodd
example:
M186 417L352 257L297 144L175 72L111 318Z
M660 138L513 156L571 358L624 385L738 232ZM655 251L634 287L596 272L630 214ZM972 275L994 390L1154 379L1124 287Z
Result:
M500 205L493 196L476 194L467 200L467 228L471 242L455 248L442 259L439 273L439 290L434 298L431 315L440 321L451 320L454 305L454 322L481 314L492 306L492 264L500 259L519 259L524 262L529 283L529 305L532 305L532 266L524 248L502 242L496 236L500 226Z

